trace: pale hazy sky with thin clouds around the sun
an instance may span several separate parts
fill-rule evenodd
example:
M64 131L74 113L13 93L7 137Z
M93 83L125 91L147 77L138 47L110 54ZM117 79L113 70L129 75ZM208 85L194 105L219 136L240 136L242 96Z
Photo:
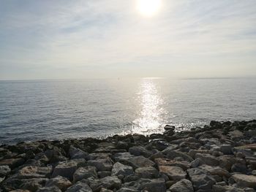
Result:
M0 0L0 80L255 77L255 0Z

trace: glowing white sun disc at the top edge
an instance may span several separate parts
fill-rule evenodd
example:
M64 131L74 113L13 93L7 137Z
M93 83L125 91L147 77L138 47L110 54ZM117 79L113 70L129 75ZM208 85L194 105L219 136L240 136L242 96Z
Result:
M141 15L151 17L158 12L161 4L161 0L138 0L137 8Z

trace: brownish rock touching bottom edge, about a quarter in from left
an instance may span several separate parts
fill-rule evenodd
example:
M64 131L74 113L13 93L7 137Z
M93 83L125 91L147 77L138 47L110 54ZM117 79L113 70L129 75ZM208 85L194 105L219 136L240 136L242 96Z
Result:
M50 188L53 186L57 186L59 189L61 189L61 191L65 191L71 185L72 183L69 180L67 180L66 177L62 176L51 178L50 180L48 180L48 182L45 183L45 187Z

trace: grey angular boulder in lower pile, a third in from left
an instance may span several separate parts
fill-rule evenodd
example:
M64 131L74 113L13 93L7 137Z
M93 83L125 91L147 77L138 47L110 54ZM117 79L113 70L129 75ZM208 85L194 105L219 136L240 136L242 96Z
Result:
M89 177L97 178L97 169L95 166L79 167L73 174L73 181L78 182Z

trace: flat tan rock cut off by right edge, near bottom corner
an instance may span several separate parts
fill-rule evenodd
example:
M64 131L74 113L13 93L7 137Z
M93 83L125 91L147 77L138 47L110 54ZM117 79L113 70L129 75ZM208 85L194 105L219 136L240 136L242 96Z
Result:
M256 188L256 176L246 174L233 174L232 178L241 187Z

